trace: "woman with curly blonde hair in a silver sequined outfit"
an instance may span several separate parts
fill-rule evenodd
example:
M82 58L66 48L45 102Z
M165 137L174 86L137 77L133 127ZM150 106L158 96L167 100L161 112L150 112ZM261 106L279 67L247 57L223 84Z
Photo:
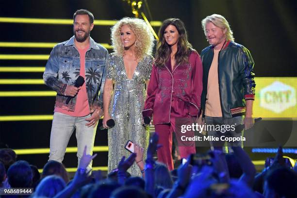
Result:
M114 53L105 61L103 93L104 119L115 120L108 129L108 172L117 168L123 156L130 155L124 147L128 140L144 148L143 160L148 148L148 129L143 126L142 110L146 99L152 69L153 35L144 20L125 17L111 29ZM141 176L136 162L128 170L131 175Z

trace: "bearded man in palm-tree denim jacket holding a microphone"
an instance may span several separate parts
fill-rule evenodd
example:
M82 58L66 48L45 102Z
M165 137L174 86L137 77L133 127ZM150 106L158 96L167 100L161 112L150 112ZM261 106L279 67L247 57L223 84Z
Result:
M63 161L74 129L78 161L85 146L87 154L92 155L98 120L103 114L103 71L108 51L90 37L94 27L91 12L78 10L73 20L74 36L52 49L43 74L45 84L57 92L49 160L58 162ZM82 76L85 82L75 87L78 76ZM67 104L68 97L71 99ZM91 168L92 163L88 167Z

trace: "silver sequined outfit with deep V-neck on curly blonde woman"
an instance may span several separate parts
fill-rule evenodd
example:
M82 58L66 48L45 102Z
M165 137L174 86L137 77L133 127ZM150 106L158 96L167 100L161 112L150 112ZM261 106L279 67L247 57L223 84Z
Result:
M114 91L109 105L109 115L115 126L108 130L108 172L117 168L122 156L131 154L124 147L128 140L144 148L146 159L149 131L142 125L142 110L146 99L145 82L149 80L153 57L146 55L134 71L132 79L127 78L123 57L111 53L106 59L106 79L114 80ZM141 176L134 162L128 170L133 176Z

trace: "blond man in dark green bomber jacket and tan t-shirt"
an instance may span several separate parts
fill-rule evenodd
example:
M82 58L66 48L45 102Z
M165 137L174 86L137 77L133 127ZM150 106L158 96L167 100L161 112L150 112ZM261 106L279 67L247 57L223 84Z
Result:
M208 135L220 137L219 141L210 144L215 149L222 149L225 141L221 137L225 136L236 137L236 141L227 142L228 146L242 146L243 133L236 132L235 126L244 124L247 130L254 125L254 61L248 49L234 42L233 33L224 16L207 16L201 23L211 45L201 52L202 116L205 117Z

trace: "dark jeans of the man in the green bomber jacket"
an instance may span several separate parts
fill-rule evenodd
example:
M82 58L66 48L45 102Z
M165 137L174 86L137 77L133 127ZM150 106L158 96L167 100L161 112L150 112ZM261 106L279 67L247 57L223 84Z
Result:
M206 125L233 125L233 126L238 126L243 123L244 116L237 116L237 117L231 117L231 118L223 118L223 117L210 117L210 116L205 116L205 123ZM211 128L211 127L209 127ZM223 129L223 128L221 128ZM235 130L236 131L236 130ZM238 137L240 138L243 135L243 131L241 132L235 132L234 130L220 130L220 131L215 131L213 129L210 129L207 131L207 134L209 136L214 136L218 137L219 139L221 136L225 137ZM221 140L221 139L220 139ZM243 146L242 141L234 141L234 142L228 142L228 141L210 141L211 147L215 148L222 148L225 144L228 146L228 149L231 150L231 147L241 147Z

